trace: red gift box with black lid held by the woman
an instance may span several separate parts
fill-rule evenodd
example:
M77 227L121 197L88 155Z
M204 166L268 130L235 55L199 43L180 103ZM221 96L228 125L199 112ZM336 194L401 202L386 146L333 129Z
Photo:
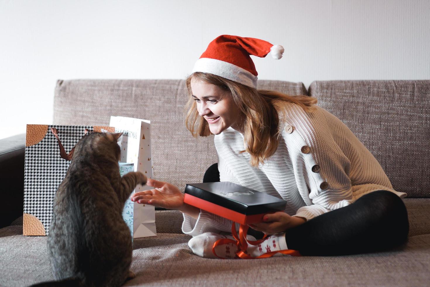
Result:
M264 214L284 211L286 201L233 182L189 183L184 203L243 225L262 222Z

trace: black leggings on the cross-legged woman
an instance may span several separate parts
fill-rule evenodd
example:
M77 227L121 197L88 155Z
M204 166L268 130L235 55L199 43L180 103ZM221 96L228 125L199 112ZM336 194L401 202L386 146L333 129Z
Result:
M203 182L218 181L218 164L212 164ZM402 199L391 191L378 190L288 229L286 243L301 255L349 255L390 250L405 243L408 232L408 213Z

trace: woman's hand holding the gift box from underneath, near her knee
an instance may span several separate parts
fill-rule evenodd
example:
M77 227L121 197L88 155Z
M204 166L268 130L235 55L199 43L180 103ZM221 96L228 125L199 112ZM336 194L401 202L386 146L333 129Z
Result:
M263 216L263 222L249 224L249 227L264 234L272 235L285 232L287 229L298 226L306 222L306 219L297 216L289 216L287 213L278 211L267 213Z

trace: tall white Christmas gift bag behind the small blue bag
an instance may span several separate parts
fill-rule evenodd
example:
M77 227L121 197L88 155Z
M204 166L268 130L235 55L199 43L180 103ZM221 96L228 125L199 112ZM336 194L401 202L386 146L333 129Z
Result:
M131 117L111 117L110 125L115 125L116 133L123 132L118 142L121 147L120 162L134 164L134 171L152 178L151 122ZM152 187L138 185L133 192L149 189ZM133 221L133 238L157 235L153 205L133 203Z

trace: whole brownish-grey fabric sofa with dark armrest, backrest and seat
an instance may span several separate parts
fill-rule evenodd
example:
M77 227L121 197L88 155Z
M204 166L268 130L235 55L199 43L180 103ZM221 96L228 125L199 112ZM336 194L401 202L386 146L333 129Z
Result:
M124 286L429 286L430 80L314 81L309 89L259 80L258 89L316 97L352 130L393 188L408 194L407 242L350 256L205 259L188 247L181 213L157 209L157 236L134 240L136 277ZM218 162L213 136L196 139L185 128L186 100L185 80L58 80L52 123L104 126L111 115L151 120L154 178L184 190ZM25 135L0 141L0 286L53 280L46 237L22 235L24 146Z

